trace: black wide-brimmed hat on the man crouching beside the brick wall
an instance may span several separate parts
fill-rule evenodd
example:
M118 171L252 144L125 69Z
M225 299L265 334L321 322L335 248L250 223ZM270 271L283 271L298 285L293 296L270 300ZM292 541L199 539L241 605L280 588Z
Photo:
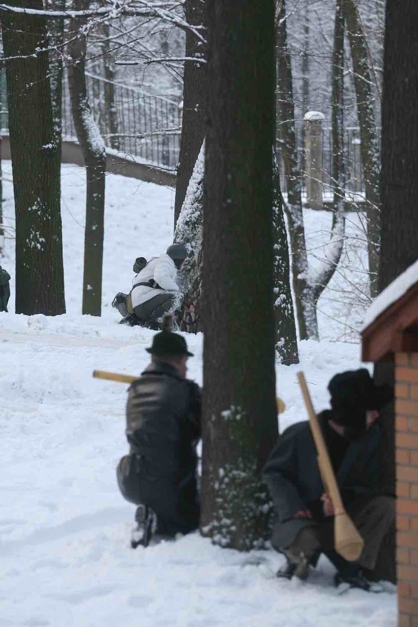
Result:
M394 399L392 386L377 386L366 368L340 372L328 384L333 409L382 409Z

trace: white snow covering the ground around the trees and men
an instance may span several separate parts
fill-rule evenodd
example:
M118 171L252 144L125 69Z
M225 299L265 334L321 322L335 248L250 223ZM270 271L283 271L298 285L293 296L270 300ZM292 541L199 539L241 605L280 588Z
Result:
M13 233L13 191L4 164L4 215ZM93 369L137 374L152 332L118 325L110 307L126 291L136 256L171 243L173 192L109 175L105 216L103 315L81 316L83 171L63 167L63 229L68 314L0 313L0 627L394 627L396 597L338 596L321 559L309 581L279 581L283 557L239 554L199 534L148 549L129 547L134 507L118 493L115 466L126 451L123 384ZM318 215L312 236L321 231ZM323 217L327 228L328 216ZM310 216L308 216L308 223ZM315 222L315 227L313 223ZM0 263L13 275L14 242ZM324 309L327 310L325 303ZM335 323L323 322L333 339ZM335 336L334 336L335 337ZM202 382L202 337L189 376ZM301 367L315 407L328 406L327 382L360 366L358 344L301 342L300 366L278 366L287 409L281 428L305 418L296 384ZM273 443L272 443L273 445Z

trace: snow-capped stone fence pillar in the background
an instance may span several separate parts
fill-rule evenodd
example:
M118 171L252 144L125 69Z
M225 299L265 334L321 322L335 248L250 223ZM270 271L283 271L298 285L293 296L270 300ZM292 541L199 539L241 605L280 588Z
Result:
M306 205L323 209L322 186L322 124L325 115L320 111L305 113L305 186Z

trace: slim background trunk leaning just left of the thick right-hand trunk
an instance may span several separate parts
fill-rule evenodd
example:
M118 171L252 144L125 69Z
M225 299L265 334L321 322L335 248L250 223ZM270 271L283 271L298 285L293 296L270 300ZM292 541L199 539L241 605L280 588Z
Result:
M370 295L377 294L377 276L380 257L380 172L379 142L377 138L372 77L367 53L367 42L355 0L342 0L345 28L353 62L360 150L363 164L367 206L368 270Z

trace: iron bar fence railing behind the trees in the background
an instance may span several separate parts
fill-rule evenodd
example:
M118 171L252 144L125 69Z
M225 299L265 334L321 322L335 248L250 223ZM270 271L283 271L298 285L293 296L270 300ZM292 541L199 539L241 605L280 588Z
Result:
M105 145L120 152L144 159L156 166L175 169L180 152L181 99L178 96L144 95L137 87L110 82L102 76L86 73L88 99ZM63 137L76 139L71 114L68 80L63 81ZM0 127L7 132L8 111L6 77L0 72ZM298 169L305 170L303 122L296 122L296 151ZM277 144L280 159L280 142ZM344 131L345 187L348 192L363 194L363 167L360 156L360 130L348 127ZM279 161L280 162L280 161ZM324 196L332 195L332 130L322 131L322 183ZM281 167L281 186L287 191L286 177ZM303 189L304 189L303 181Z

